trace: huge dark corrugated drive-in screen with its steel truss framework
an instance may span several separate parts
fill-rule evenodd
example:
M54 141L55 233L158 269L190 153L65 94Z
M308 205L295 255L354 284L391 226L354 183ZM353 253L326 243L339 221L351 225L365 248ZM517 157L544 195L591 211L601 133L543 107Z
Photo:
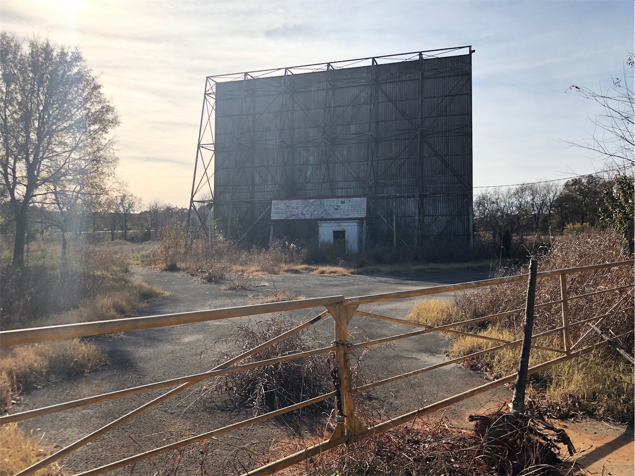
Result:
M265 244L272 199L368 197L366 239L472 237L471 46L208 76L187 228ZM312 234L314 223L277 234Z

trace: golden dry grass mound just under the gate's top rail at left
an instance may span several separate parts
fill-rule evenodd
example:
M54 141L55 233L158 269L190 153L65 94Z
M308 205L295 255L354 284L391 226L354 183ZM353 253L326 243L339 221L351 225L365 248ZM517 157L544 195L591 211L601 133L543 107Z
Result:
M0 413L17 401L25 388L90 373L107 364L95 345L78 339L17 345L3 349L0 357Z

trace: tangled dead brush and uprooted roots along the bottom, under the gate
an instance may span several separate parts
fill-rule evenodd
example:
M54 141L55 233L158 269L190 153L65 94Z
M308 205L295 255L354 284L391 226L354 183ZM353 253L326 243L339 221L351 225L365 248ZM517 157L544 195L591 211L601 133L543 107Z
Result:
M573 451L564 430L552 426L537 411L517 414L514 420L504 415L500 411L472 415L474 432L452 426L445 418L418 421L325 451L286 473L522 476L568 472L568 465L559 458L559 444ZM302 447L287 444L284 453Z

